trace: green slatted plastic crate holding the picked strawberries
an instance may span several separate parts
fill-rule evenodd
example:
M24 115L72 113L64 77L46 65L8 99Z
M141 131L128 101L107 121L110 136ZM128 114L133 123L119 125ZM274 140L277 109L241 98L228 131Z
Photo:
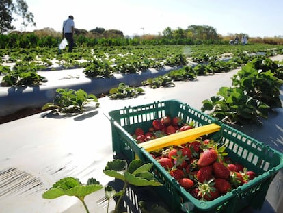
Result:
M180 116L183 121L193 121L196 127L217 123L221 131L209 137L221 144L226 144L226 151L232 160L241 162L245 167L257 173L258 177L247 184L213 201L200 201L185 191L152 156L138 147L131 136L136 127L147 130L152 121L165 115ZM123 155L128 160L138 156L144 162L152 162L152 173L163 183L157 192L165 203L170 205L170 212L240 212L251 206L260 209L265 201L269 184L278 171L283 168L283 155L241 131L221 123L210 116L191 108L186 103L176 100L157 101L146 105L126 107L109 112L111 121L113 153Z

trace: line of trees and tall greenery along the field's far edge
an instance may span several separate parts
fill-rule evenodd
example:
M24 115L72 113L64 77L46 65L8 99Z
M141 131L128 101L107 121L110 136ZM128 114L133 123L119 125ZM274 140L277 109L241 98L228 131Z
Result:
M33 32L16 32L12 21L14 16L20 17L23 27L29 24L36 26L33 13L29 12L25 0L1 0L0 2L0 48L31 48L31 47L57 47L62 39L62 32L44 28ZM10 33L7 33L10 32ZM246 36L250 42L283 45L283 38L249 38L247 34L230 34L221 36L214 27L208 25L189 25L187 29L171 29L167 27L158 35L144 34L142 36L124 36L118 29L104 29L96 27L75 29L75 42L77 47L84 45L196 45L196 44L228 44L236 36Z

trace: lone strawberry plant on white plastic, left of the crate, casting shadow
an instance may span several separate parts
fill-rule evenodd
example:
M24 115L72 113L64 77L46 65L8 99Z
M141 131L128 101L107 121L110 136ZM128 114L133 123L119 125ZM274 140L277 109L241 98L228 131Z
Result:
M53 108L51 114L57 114L62 112L66 113L82 113L85 109L85 105L90 102L96 102L95 107L98 108L98 99L93 94L87 94L82 89L72 90L68 88L57 88L56 92L59 95L53 99L52 103L46 103L42 110Z

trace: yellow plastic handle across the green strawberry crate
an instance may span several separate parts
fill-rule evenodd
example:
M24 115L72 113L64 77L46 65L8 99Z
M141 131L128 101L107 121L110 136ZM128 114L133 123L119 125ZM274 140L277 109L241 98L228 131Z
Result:
M193 140L196 140L200 136L219 131L220 129L221 127L219 125L211 123L186 131L180 131L169 136L149 140L147 142L142 142L139 144L139 147L143 147L144 149L146 149L146 151L154 151L172 145L182 145L187 142L193 142Z

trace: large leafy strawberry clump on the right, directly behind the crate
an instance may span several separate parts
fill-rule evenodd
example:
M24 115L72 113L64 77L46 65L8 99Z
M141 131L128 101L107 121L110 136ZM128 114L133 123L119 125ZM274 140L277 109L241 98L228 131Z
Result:
M234 124L258 122L271 108L281 108L282 66L269 58L254 58L232 77L232 86L202 101L202 112ZM277 76L277 77L275 77Z

